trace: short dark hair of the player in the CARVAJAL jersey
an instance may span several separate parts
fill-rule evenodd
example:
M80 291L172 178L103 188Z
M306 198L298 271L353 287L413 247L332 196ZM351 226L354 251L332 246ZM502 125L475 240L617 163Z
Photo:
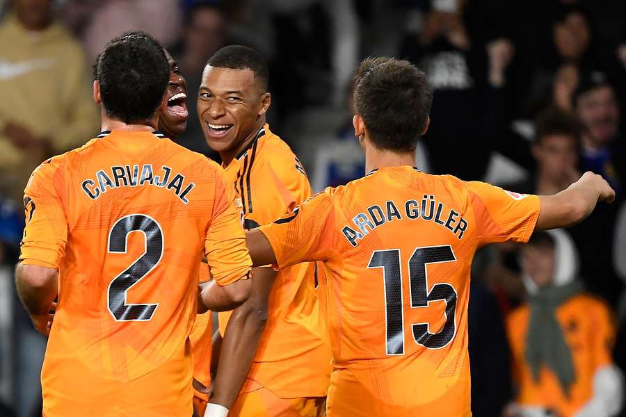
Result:
M125 123L149 120L157 112L170 80L163 47L142 31L114 38L94 65L100 99L109 117Z

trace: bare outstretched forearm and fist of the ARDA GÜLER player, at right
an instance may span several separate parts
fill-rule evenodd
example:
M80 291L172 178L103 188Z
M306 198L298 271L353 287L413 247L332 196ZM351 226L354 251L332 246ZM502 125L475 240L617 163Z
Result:
M555 195L541 196L536 230L570 227L591 214L599 201L615 199L615 191L600 175L585 174L567 189Z

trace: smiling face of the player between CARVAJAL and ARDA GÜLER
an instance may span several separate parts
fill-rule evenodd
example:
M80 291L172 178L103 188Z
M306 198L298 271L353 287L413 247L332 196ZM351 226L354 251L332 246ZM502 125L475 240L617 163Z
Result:
M234 156L254 138L269 106L252 70L207 65L198 93L198 116L211 149ZM222 156L224 158L224 155Z

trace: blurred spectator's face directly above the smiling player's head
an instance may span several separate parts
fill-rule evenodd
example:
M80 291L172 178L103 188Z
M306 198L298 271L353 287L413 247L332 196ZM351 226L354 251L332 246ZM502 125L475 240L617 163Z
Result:
M226 42L226 22L218 10L199 8L193 12L186 30L186 48L203 60L223 47Z

